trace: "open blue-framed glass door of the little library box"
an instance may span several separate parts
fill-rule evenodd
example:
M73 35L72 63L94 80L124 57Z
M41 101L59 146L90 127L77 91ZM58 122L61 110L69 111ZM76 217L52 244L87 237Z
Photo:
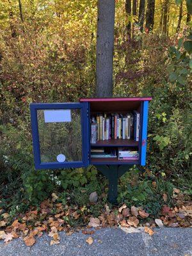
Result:
M31 103L35 169L89 164L89 109L82 103Z

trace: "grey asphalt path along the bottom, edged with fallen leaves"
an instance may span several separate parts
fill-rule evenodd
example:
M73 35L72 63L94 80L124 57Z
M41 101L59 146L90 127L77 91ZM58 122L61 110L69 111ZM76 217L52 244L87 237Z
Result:
M191 228L156 228L150 237L143 228L103 228L97 230L93 244L81 232L66 236L60 232L60 244L50 246L51 237L44 234L30 248L22 239L9 244L0 242L1 256L191 256Z

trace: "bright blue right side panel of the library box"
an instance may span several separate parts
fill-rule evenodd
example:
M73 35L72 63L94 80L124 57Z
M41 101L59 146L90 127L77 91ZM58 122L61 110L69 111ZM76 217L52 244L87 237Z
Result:
M141 132L141 166L145 166L147 155L147 121L148 121L148 101L142 102L142 132Z

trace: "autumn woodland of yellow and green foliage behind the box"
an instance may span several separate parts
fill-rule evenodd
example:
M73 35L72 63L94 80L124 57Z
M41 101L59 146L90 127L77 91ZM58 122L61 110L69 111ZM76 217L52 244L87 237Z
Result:
M156 216L173 188L191 195L191 0L115 2L113 97L153 98L147 166L120 179L118 203ZM94 97L97 1L0 0L0 29L0 209L12 219L52 193L82 207L97 191L99 216L107 186L94 166L35 172L29 117L31 102Z

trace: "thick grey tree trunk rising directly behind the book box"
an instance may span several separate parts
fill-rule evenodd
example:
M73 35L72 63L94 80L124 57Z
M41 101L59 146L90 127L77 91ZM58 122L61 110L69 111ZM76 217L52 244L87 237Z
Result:
M97 97L113 95L115 0L98 0L96 86Z

